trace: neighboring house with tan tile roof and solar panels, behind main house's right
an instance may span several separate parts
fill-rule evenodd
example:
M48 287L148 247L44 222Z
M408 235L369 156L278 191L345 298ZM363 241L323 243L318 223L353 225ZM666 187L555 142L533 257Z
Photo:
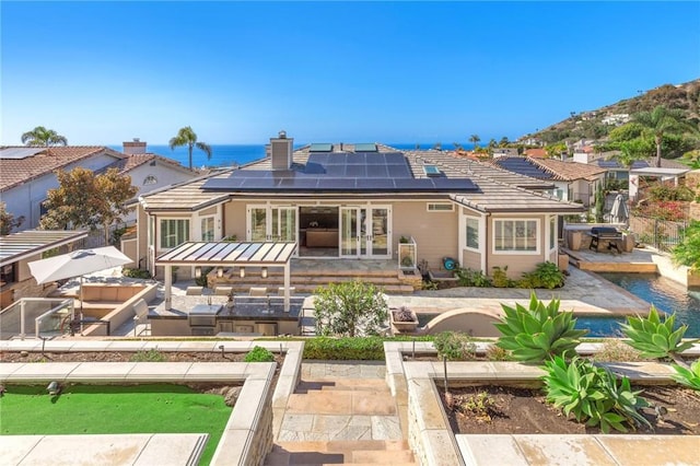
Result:
M555 184L557 198L581 202L585 207L595 202L595 193L605 183L605 168L583 163L518 156L495 159L493 164L513 173L548 180Z

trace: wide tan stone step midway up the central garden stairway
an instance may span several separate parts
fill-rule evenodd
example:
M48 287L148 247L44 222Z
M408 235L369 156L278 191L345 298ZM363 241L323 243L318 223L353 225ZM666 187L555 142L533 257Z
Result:
M396 403L388 391L310 391L290 395L288 413L396 416Z

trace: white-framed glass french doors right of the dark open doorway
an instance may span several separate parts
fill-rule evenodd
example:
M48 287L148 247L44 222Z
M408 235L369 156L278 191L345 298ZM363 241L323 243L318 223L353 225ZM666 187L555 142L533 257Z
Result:
M390 257L389 207L340 208L340 257Z

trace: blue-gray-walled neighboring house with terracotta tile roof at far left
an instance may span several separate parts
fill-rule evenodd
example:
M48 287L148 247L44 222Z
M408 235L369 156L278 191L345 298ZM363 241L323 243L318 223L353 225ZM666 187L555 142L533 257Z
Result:
M49 189L58 187L57 170L77 166L102 170L126 158L102 145L66 145L50 148L0 148L0 196L8 212L24 217L16 231L35 229L45 213L42 202Z

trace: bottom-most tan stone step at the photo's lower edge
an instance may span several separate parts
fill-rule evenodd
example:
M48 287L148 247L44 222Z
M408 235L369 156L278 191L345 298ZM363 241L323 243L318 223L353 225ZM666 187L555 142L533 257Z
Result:
M265 458L280 465L415 465L406 441L279 442Z

